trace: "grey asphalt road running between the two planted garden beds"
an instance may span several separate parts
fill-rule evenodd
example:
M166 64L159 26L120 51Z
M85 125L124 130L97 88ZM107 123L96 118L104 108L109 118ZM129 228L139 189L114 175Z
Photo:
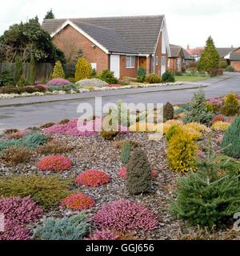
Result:
M218 97L228 94L230 91L240 93L240 74L228 74L226 79L218 82L218 79L210 79L202 83L210 86L204 88L206 98ZM201 82L199 82L199 86ZM198 89L174 90L162 92L145 92L136 94L114 95L102 98L102 103L123 102L133 103L166 103L182 104L190 102L193 94ZM26 106L8 106L0 108L0 129L18 128L25 129L33 126L41 126L46 122L59 122L64 118L79 118L78 105L82 102L94 106L94 98L72 100L66 102L49 102Z

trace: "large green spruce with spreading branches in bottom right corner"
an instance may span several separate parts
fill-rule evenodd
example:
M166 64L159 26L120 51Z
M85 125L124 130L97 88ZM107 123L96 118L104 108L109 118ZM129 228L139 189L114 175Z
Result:
M238 177L222 175L211 154L198 167L197 173L179 178L172 212L194 226L211 229L228 224L240 210Z

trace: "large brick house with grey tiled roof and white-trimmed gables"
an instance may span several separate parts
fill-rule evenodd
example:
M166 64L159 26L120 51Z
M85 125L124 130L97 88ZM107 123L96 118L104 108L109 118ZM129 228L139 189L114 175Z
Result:
M42 27L68 59L82 50L98 73L135 78L140 66L147 74L166 72L170 44L164 15L45 19Z

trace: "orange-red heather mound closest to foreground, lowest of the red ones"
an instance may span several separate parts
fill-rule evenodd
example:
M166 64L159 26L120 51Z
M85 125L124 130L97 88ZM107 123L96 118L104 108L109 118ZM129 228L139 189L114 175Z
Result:
M76 193L70 194L62 201L61 205L72 210L87 210L95 205L95 201L86 194Z

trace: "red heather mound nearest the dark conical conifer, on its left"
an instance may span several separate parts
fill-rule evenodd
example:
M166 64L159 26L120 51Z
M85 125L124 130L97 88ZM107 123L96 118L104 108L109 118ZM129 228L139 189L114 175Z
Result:
M79 174L76 180L78 185L97 187L110 182L110 176L102 170L86 170Z

